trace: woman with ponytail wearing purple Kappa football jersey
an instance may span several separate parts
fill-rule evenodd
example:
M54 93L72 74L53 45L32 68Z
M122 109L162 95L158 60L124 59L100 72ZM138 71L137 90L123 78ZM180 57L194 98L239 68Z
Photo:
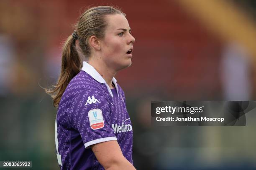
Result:
M87 62L81 62L79 43ZM131 65L134 37L120 10L92 7L64 44L61 74L47 92L58 107L55 142L62 170L133 170L131 120L114 76Z

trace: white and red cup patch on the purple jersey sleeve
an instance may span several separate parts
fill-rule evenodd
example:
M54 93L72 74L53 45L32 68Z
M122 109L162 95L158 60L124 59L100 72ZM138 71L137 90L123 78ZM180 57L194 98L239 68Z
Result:
M100 129L104 127L104 120L102 116L102 111L100 109L92 109L88 112L88 117L90 120L90 126L93 130Z

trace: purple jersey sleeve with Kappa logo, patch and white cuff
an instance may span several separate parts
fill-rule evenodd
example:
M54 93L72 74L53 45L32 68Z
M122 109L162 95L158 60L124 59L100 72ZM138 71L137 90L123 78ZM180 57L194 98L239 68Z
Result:
M117 140L110 122L111 102L97 90L77 95L69 112L71 126L78 130L85 148L96 143Z

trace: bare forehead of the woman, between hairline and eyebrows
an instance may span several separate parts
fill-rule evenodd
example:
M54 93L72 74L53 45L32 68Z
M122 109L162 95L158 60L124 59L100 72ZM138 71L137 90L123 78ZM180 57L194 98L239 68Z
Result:
M108 23L106 31L116 31L119 28L130 29L128 20L121 14L107 15L105 19Z

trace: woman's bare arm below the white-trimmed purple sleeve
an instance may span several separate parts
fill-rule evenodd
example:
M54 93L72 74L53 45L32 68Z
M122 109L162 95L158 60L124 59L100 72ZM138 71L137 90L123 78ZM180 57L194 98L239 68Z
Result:
M106 170L135 170L133 165L123 156L116 140L92 145L92 151Z

